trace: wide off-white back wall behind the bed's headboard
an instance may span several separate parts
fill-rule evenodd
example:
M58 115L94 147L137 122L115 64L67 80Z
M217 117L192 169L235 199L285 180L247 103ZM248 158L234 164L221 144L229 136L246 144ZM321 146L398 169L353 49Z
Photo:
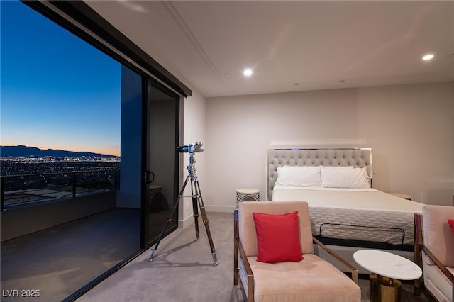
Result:
M454 83L207 99L206 208L233 211L244 187L265 200L270 145L372 147L375 189L452 206Z

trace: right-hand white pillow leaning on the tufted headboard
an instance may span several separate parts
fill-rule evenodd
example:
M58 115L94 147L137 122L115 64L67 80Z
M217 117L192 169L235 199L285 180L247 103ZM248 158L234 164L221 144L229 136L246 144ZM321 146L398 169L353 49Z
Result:
M321 168L321 186L323 188L370 188L366 168L327 167Z

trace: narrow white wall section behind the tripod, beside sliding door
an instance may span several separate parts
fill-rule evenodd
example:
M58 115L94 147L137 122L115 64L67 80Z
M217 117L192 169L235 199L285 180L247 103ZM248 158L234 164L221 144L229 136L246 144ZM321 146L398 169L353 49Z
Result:
M192 89L192 96L189 96L183 101L184 107L184 121L183 121L183 145L195 144L196 142L202 142L204 145L204 152L196 152L194 156L196 158L196 175L199 178L200 191L204 203L206 204L205 190L206 190L206 150L209 150L209 145L206 144L206 99L202 96L199 91ZM189 154L183 153L182 160L182 179L186 179L187 165L189 164ZM181 189L181 186L180 186ZM178 220L182 223L183 227L194 222L193 211L192 211L192 198L191 198L191 183L187 184L184 190L184 196L179 201L179 218ZM199 227L201 226L202 220L199 217Z

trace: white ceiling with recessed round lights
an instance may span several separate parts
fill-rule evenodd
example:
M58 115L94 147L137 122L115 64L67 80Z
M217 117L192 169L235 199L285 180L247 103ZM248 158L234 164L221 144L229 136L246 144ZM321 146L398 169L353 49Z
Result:
M207 97L454 81L454 1L87 4Z

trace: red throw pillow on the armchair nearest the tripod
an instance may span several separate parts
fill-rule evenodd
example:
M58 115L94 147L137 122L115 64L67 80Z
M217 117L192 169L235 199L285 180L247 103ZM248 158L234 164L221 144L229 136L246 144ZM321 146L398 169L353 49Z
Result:
M282 215L253 213L257 233L257 261L300 262L298 211Z

